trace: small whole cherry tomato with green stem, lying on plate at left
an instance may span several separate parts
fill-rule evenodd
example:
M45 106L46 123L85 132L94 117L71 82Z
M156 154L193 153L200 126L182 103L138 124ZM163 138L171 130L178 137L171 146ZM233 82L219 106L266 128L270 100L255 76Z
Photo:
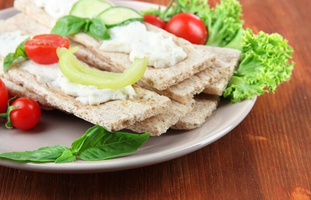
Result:
M19 98L12 105L18 107L10 113L12 125L21 130L28 130L35 127L41 117L41 108L39 104L29 98Z

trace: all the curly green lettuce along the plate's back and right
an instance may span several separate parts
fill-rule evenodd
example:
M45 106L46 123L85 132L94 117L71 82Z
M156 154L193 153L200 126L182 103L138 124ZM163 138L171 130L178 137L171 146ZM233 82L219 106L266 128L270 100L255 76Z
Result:
M180 12L199 16L209 31L206 45L242 51L241 62L223 96L232 102L251 99L255 95L274 92L276 87L291 78L294 62L293 48L281 35L244 30L242 6L238 0L221 0L210 8L207 0L172 0L165 10L149 9L143 14L154 14L168 21Z

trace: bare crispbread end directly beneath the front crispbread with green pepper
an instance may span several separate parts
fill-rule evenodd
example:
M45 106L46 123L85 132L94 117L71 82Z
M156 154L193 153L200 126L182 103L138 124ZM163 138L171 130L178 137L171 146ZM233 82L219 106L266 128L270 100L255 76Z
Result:
M156 116L138 121L128 127L138 133L150 132L151 136L159 136L167 129L176 124L180 118L185 116L193 107L193 103L183 104L172 100L166 110Z

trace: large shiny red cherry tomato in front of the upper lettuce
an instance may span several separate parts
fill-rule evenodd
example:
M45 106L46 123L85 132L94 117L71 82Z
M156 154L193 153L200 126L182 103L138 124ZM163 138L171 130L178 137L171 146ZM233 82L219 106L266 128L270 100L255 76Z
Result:
M173 16L165 26L165 30L193 44L205 44L208 31L200 17L182 12Z

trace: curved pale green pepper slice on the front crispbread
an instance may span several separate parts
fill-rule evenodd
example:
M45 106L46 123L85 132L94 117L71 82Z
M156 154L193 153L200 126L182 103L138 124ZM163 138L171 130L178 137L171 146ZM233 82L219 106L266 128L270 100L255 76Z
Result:
M73 54L78 47L72 49L59 48L57 54L62 73L71 81L96 86L98 89L120 89L138 82L147 69L147 58L134 61L123 73L104 72L82 64Z

